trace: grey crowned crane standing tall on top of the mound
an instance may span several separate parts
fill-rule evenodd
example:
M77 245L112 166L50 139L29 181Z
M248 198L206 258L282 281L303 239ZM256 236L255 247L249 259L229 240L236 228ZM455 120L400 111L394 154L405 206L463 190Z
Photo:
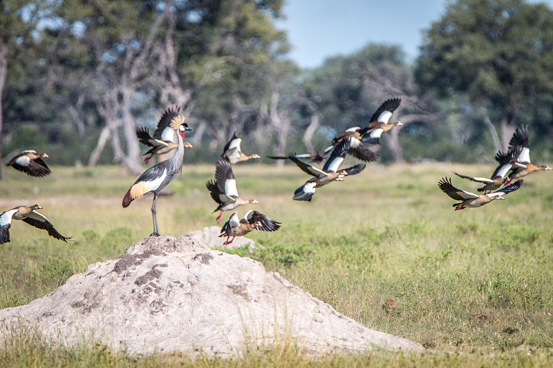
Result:
M160 162L147 171L144 171L142 175L134 182L134 184L126 191L123 197L123 208L128 207L133 200L142 197L142 195L153 193L153 203L151 205L151 216L153 220L153 233L150 236L159 236L158 220L156 217L156 201L160 191L173 180L177 173L182 168L182 160L185 157L185 145L182 142L182 135L187 130L191 130L188 124L185 123L185 117L177 115L171 119L169 127L174 132L179 132L177 135L178 147L175 155L170 159Z

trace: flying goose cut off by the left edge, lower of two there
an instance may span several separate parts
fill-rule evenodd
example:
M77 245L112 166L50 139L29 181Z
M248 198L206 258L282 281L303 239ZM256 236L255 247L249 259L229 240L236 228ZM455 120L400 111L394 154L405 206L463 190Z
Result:
M12 220L22 220L38 229L46 230L48 235L64 242L73 238L73 236L67 237L60 234L44 215L36 211L38 209L42 209L40 204L33 204L32 206L17 206L2 213L0 215L0 244L10 241Z

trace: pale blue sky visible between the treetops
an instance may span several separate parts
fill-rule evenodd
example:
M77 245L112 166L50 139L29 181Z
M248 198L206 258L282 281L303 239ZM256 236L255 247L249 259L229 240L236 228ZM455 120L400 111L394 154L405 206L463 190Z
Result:
M530 1L538 3L542 1ZM552 7L553 0L543 1ZM290 59L301 68L320 66L326 57L348 55L367 43L398 45L414 59L422 30L438 21L447 0L285 0Z

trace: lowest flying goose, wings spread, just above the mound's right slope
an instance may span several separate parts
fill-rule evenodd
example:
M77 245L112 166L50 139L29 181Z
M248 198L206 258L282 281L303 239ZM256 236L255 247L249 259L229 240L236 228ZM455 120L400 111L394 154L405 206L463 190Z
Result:
M280 224L280 222L272 220L272 218L263 215L261 212L247 211L241 220L238 220L238 215L234 212L223 225L219 238L226 236L227 240L225 240L223 245L227 245L232 243L237 236L246 235L254 229L257 231L277 231L281 227ZM232 239L229 240L231 236Z

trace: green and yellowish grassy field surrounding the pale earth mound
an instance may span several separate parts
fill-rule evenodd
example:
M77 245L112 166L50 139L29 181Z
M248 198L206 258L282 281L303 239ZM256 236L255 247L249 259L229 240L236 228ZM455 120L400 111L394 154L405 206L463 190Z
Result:
M535 173L523 187L481 209L453 211L440 177L453 171L489 176L491 166L379 166L319 188L313 202L292 201L308 179L299 168L238 164L242 197L283 223L276 233L251 233L253 253L316 298L371 329L447 354L306 358L293 346L231 361L179 356L135 360L102 347L61 349L21 336L0 350L6 366L547 366L553 362L553 174ZM6 168L0 211L39 203L41 213L74 241L59 242L23 222L0 246L0 309L46 295L88 264L112 260L152 231L151 196L121 206L135 177L115 166L54 167L36 179ZM205 189L214 166L185 166L158 200L160 232L180 236L215 224ZM453 175L453 184L478 184ZM223 221L228 217L223 216ZM395 307L386 307L393 300ZM388 302L390 304L390 302ZM529 345L532 353L517 353Z

